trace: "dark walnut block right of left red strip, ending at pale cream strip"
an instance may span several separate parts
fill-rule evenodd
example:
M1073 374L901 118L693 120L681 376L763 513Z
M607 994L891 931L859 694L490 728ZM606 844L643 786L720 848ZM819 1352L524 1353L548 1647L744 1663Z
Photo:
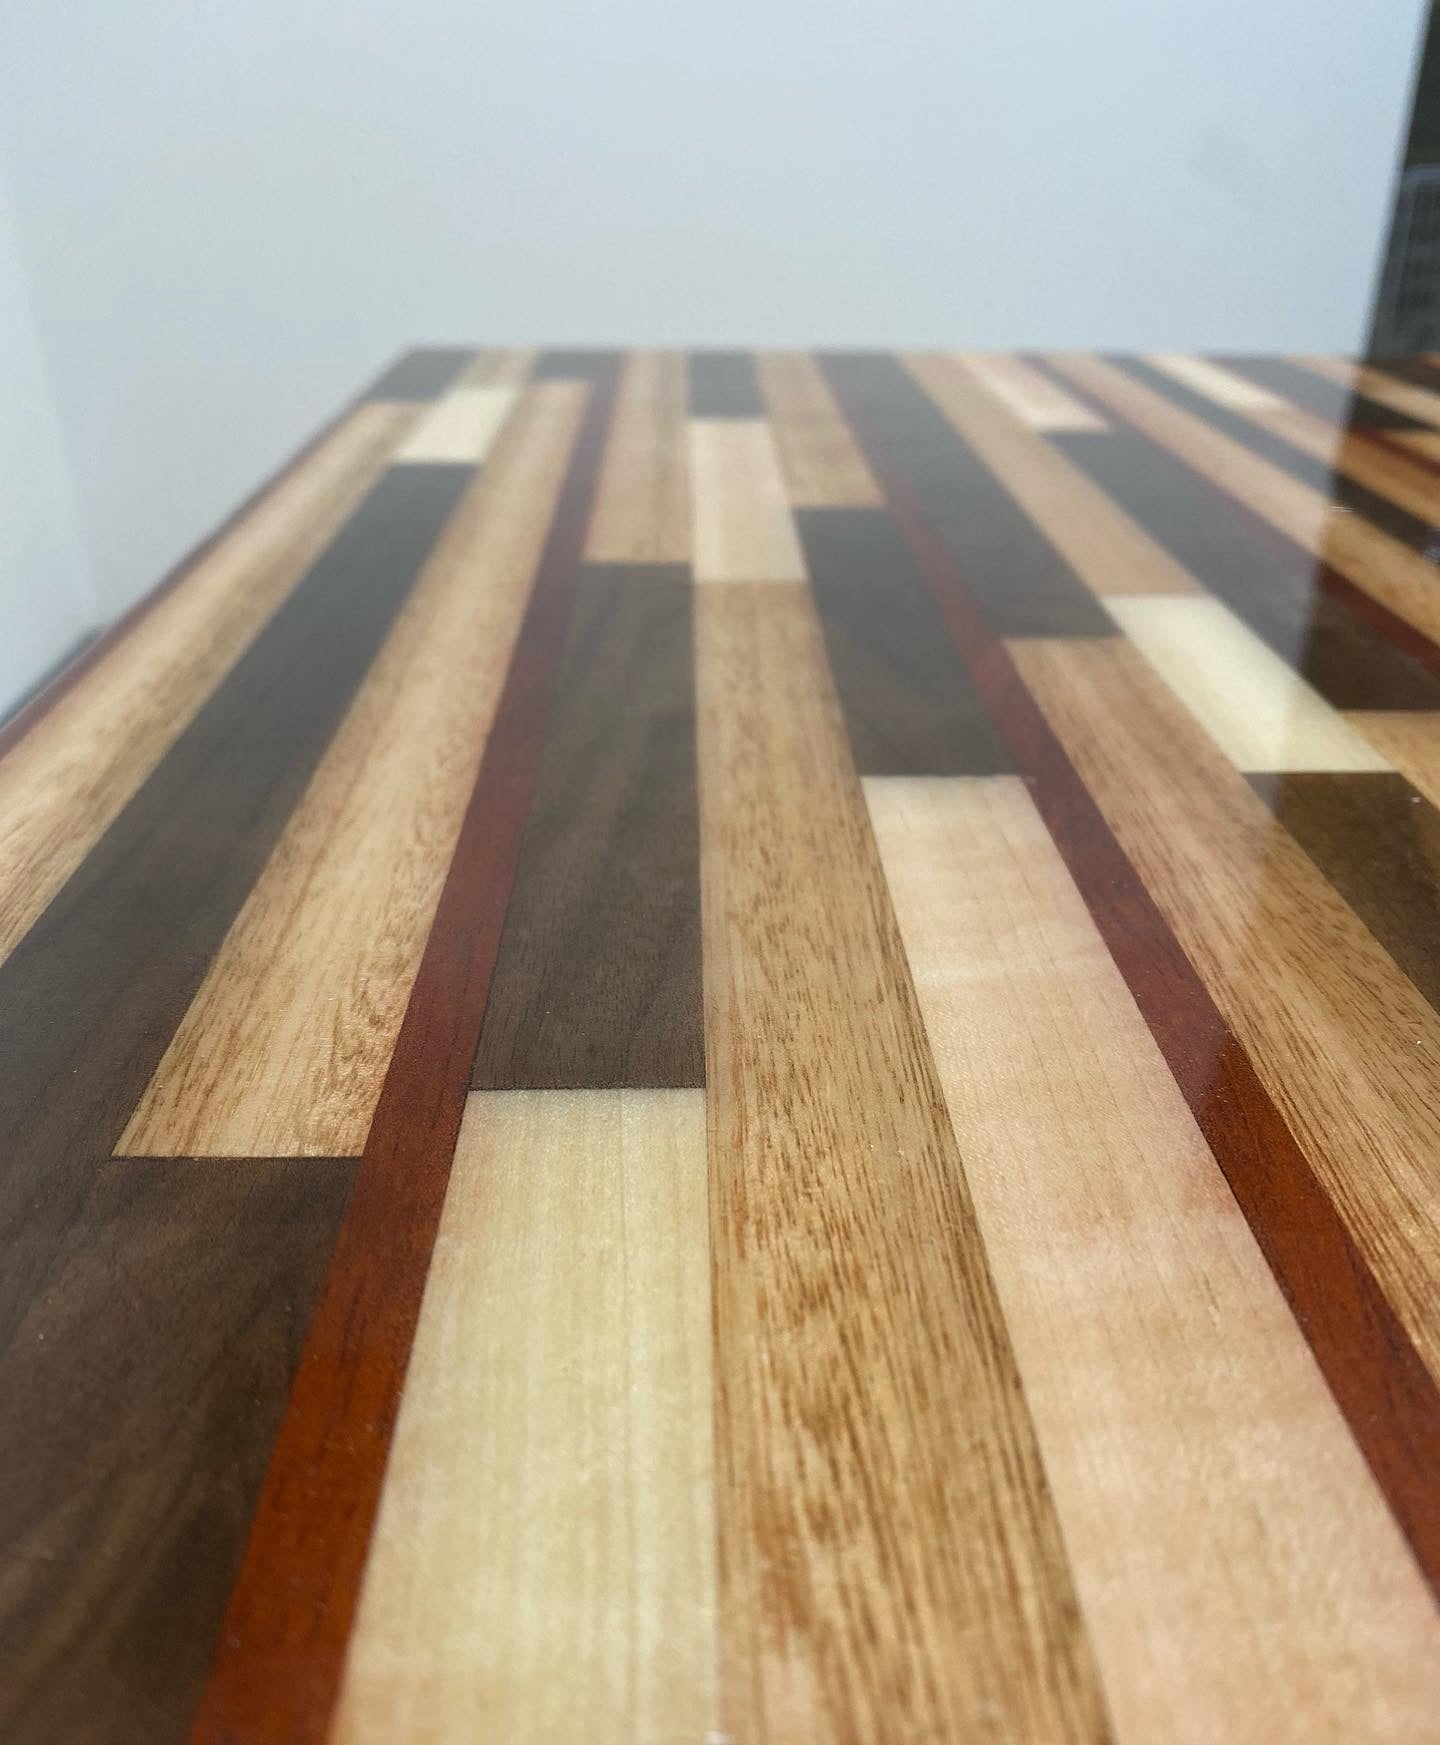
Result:
M477 1091L705 1082L691 592L579 572Z

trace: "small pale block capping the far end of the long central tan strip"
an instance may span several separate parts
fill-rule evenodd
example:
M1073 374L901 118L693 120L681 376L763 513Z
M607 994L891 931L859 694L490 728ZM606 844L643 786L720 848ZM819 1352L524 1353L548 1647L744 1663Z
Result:
M691 419L696 581L803 581L805 558L766 419Z

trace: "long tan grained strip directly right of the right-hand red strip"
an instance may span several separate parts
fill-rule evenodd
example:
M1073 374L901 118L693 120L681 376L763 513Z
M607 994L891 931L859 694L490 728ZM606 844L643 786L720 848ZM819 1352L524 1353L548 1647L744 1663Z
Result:
M1135 649L1011 653L1440 1375L1440 1017Z

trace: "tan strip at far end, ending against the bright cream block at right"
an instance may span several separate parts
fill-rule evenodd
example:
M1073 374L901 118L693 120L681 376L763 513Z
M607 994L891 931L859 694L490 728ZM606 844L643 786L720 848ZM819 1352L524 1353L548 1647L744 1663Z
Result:
M969 363L916 354L906 366L1091 593L1199 592L1107 492L969 380Z

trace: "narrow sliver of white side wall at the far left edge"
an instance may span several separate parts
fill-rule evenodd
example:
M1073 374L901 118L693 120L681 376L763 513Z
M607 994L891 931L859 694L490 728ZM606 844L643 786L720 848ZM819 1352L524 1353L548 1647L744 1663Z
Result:
M99 618L0 181L0 714Z

